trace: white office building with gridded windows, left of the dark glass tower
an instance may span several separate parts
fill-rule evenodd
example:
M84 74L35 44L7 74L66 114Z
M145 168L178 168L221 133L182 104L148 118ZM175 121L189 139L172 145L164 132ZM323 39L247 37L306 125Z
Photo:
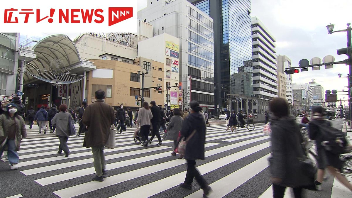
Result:
M138 19L153 26L153 36L167 33L180 39L179 51L170 50L179 58L184 94L214 114L213 19L187 0L148 0Z

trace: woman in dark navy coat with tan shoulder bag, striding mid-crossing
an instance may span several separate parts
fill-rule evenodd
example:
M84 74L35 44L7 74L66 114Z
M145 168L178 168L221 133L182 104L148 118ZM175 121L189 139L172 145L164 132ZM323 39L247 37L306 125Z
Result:
M212 189L210 186L208 186L207 181L195 168L196 160L204 160L206 121L202 113L200 113L202 109L197 101L191 101L190 109L191 113L183 121L181 134L183 137L188 138L193 133L193 131L195 131L195 133L188 140L186 146L184 159L187 160L187 173L186 179L184 179L184 182L181 183L180 186L182 188L192 190L193 178L196 178L196 181L204 191L203 197L206 197Z

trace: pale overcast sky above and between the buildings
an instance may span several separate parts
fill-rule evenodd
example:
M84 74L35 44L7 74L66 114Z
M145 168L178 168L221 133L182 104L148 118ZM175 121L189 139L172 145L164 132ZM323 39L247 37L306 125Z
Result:
M138 0L138 10L147 6L147 0ZM329 35L326 25L335 24L334 30L346 29L352 23L352 0L252 0L251 16L258 17L276 38L277 54L291 59L292 66L297 67L301 59L312 59L326 55L342 61L346 55L337 55L336 49L345 48L346 32ZM55 33L26 33L21 37L46 37ZM79 33L67 33L74 39ZM324 69L293 74L293 82L305 83L315 79L325 90L347 90L347 78L338 78L348 74L344 64L334 65L333 69ZM341 93L342 94L342 93ZM341 98L347 95L341 95ZM340 97L339 97L340 98Z

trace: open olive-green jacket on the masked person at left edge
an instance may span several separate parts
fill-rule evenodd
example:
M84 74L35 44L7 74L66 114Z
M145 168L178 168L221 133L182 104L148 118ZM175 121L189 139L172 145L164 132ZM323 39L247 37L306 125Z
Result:
M20 143L23 137L27 137L26 126L24 120L20 116L15 117L16 123L16 137L15 137L15 146L16 150L20 150ZM10 119L6 114L0 115L0 150L2 149L1 143L5 140L8 135L8 125L10 125ZM7 146L5 146L4 150L7 150Z

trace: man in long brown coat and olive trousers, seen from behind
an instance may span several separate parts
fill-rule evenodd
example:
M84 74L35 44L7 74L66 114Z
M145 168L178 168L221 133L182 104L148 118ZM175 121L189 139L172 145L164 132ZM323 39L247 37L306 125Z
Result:
M105 174L104 145L109 136L109 130L114 123L115 114L112 106L105 103L105 92L101 89L95 92L96 101L86 107L82 122L88 126L84 136L83 147L92 147L95 181L103 181Z

